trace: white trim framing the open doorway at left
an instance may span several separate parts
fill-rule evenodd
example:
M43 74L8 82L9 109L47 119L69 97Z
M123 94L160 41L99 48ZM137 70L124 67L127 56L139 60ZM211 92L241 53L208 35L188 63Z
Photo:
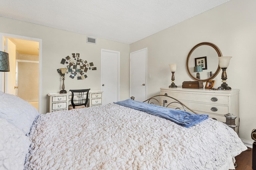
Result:
M4 38L14 38L14 39L24 39L28 41L37 41L39 42L39 108L38 111L41 113L42 110L42 39L25 37L21 35L14 35L8 33L0 33L0 51L4 51ZM4 74L5 72L0 73L0 90L4 92Z

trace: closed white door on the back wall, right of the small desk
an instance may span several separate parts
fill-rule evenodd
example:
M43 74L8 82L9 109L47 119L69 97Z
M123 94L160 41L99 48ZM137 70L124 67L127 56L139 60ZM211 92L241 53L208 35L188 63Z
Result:
M102 104L119 100L119 51L101 50Z

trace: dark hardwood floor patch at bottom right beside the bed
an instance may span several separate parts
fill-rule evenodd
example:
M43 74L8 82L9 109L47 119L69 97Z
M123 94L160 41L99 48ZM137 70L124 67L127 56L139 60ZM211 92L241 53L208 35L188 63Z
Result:
M236 170L252 170L252 148L236 156Z

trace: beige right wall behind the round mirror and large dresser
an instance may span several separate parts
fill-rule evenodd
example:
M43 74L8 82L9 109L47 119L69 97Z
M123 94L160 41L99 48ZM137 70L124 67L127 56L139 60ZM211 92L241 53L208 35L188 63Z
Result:
M252 129L256 128L255 68L256 63L256 1L231 0L212 10L183 21L164 31L130 45L130 51L148 47L148 96L159 94L160 87L170 85L169 63L177 63L175 83L193 81L186 72L186 57L197 43L217 45L223 56L232 56L227 69L227 83L240 89L239 134L244 142L252 143ZM221 72L215 87L221 84Z

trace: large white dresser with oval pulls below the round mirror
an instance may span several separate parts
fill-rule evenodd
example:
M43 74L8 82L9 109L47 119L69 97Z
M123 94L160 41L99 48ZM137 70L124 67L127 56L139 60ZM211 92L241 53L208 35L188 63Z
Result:
M173 98L180 100L190 109L200 114L208 114L211 118L216 118L218 121L226 122L227 113L232 113L237 116L236 125L239 125L239 90L210 90L210 89L190 89L190 88L160 88L162 95L167 94ZM163 104L170 98L161 96L160 102ZM176 104L170 107L176 108ZM189 111L189 110L186 110ZM238 127L235 129L238 132Z

